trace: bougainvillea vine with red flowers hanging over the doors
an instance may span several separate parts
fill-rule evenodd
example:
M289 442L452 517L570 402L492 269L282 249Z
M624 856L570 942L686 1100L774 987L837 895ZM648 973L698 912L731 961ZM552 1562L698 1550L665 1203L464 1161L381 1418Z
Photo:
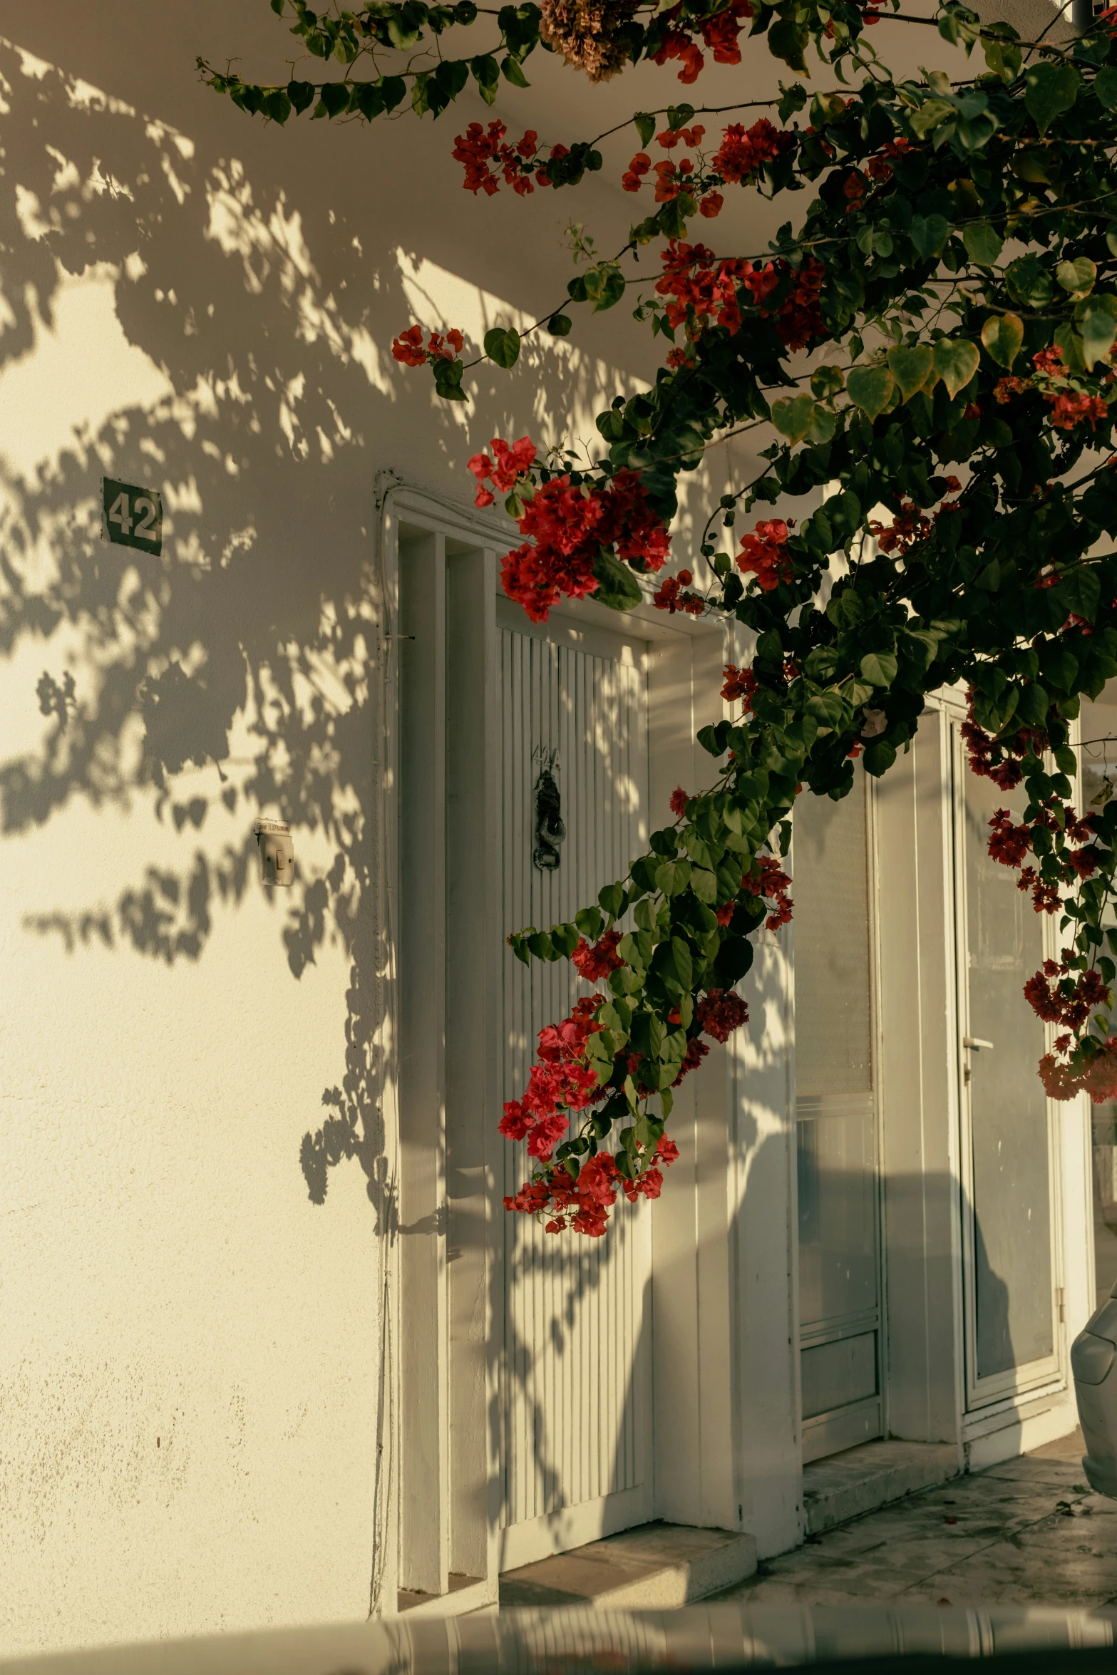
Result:
M310 54L347 65L342 80L285 87L206 70L276 122L311 106L372 121L405 97L437 116L467 84L491 104L501 80L526 85L536 50L591 80L651 60L692 87L708 59L739 64L745 39L764 37L792 72L811 52L842 84L780 82L717 122L680 100L611 131L616 181L646 214L615 256L583 236L583 271L531 330L566 335L568 308L635 303L665 338L663 365L650 389L615 397L589 449L524 436L469 461L477 504L502 497L517 524L502 578L533 620L563 598L650 600L737 623L754 648L723 668L728 714L698 734L710 784L678 787L648 853L573 921L509 936L522 960L571 960L591 992L541 1032L504 1107L531 1167L507 1208L600 1236L621 1196L658 1196L675 1089L747 1023L735 985L755 935L794 911L782 858L795 797L886 774L951 687L970 693L970 765L1005 794L990 856L1058 921L1058 956L1022 997L1050 1032L1038 1074L1055 1099L1117 1097L1117 799L1075 804L1072 744L1080 700L1117 677L1109 18L1022 42L945 0L934 20L894 25L926 27L924 59L934 28L971 54L955 54L968 74L951 79L889 72L864 34L888 7L852 0L543 0L494 22L472 3L375 0L330 17L271 3ZM499 40L456 59L447 35L442 54L442 35L474 25ZM509 141L504 122L472 122L454 161L481 206L504 188L576 186L605 168L611 134L544 144L533 127ZM715 250L730 193L787 194L794 214L764 250ZM467 360L461 333L409 325L394 353L467 400L469 367L511 367L519 348L494 327ZM680 477L744 430L764 444L755 472L672 561Z

